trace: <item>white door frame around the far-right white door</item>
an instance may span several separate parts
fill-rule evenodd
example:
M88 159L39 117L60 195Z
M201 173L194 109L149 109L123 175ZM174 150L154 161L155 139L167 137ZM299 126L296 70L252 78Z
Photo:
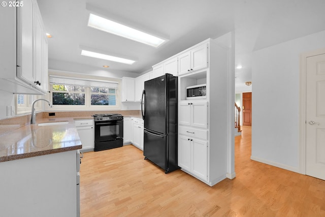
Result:
M300 54L300 153L299 172L306 175L306 91L307 91L307 57L325 53L325 48L308 51Z

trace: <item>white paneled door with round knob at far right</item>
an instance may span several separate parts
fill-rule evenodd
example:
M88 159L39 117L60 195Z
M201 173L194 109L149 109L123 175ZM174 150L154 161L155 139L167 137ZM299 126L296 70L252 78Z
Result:
M325 180L325 54L306 61L306 174Z

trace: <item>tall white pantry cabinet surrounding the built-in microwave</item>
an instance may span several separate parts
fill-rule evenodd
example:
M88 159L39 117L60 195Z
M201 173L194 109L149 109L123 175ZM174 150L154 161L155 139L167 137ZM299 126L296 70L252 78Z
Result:
M228 48L211 39L178 56L178 166L212 186L226 178ZM186 87L206 85L206 99Z

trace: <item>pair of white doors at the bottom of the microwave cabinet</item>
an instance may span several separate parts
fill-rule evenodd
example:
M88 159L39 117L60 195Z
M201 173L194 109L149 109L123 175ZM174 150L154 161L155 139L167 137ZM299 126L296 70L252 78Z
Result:
M208 180L208 141L178 136L178 166L204 181Z

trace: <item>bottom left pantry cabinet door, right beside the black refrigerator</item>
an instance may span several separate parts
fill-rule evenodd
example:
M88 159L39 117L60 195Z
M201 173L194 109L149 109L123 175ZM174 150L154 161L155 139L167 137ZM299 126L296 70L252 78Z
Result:
M178 166L191 171L191 143L188 137L178 136Z

